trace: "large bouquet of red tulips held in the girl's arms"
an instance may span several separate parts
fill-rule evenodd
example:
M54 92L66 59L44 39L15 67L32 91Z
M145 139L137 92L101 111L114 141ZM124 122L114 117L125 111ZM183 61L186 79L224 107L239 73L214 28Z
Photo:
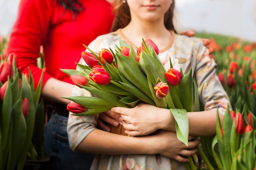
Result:
M187 145L186 113L200 110L192 71L183 75L182 70L175 70L172 64L166 71L159 60L157 46L149 39L142 40L137 50L124 42L120 42L120 46L116 46L115 52L102 49L99 53L85 46L90 51L81 53L86 64L77 64L77 70L62 70L70 75L74 84L95 96L65 97L73 101L67 110L73 115L85 116L103 113L115 106L132 108L140 102L168 108L175 117L177 138Z

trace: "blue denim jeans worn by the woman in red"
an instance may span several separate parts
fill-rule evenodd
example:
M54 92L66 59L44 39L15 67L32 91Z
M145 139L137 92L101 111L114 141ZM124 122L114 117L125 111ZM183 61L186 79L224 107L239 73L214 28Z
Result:
M52 170L90 170L94 154L74 152L67 138L67 117L54 113L45 127L45 152Z

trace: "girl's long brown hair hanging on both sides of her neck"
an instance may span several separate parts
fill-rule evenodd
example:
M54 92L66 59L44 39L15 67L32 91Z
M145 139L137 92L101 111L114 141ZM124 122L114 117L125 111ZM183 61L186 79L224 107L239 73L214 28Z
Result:
M119 28L124 28L129 24L131 20L130 8L127 2L124 3L123 0L115 0L114 7L115 8L113 9L113 13L115 15L115 20L112 24L111 31L117 31ZM164 14L164 26L166 27L166 29L177 33L173 24L174 8L175 0L173 0L168 11L166 11L166 13Z

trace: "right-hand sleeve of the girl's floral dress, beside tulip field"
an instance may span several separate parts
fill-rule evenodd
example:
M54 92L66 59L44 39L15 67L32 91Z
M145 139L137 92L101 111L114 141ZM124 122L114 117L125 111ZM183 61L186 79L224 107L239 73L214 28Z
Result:
M209 55L209 50L199 39L195 43L193 53L196 57L195 79L204 110L217 110L218 108L219 113L224 115L227 106L231 110L231 104L216 74L217 64L214 57Z

